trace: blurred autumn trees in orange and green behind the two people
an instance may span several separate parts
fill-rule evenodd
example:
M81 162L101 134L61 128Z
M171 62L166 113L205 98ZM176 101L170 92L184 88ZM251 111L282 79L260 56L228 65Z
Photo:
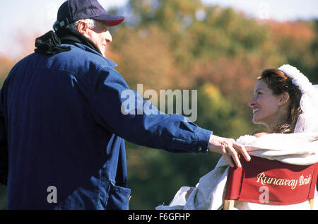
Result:
M198 90L196 124L219 136L237 138L261 128L252 124L248 102L264 69L292 64L318 83L318 20L255 20L199 0L131 0L112 12L130 15L111 28L108 54L130 88L142 83L143 90L158 95L159 90ZM1 82L15 62L0 58ZM126 149L131 209L169 204L179 187L195 186L220 158L131 143ZM6 188L0 191L5 208Z

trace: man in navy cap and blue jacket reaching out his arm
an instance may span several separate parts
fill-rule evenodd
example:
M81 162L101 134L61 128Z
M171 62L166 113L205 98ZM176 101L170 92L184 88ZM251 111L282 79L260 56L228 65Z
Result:
M65 1L54 31L11 69L0 93L8 209L128 209L124 139L173 153L223 153L230 165L240 165L237 152L249 160L234 140L179 114L122 112L129 87L105 51L108 26L123 20L96 0ZM137 111L146 101L135 97Z

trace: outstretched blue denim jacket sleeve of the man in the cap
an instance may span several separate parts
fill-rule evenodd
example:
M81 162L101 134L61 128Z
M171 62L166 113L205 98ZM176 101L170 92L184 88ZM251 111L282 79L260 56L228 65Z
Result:
M110 67L93 78L90 103L95 121L126 141L174 153L208 151L211 131L180 114L160 112Z

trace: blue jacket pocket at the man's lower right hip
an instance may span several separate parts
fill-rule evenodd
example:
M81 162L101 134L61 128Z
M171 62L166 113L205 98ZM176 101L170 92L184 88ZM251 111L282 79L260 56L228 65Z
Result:
M110 191L108 191L108 200L105 209L128 210L130 194L131 189L129 188L114 186L110 184Z

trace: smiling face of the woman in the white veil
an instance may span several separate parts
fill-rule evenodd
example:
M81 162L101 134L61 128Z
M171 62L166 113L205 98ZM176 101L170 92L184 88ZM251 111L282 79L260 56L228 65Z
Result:
M281 119L280 97L273 95L263 80L259 80L254 89L254 97L249 102L253 108L253 123L264 124L269 129L272 124L278 124Z

